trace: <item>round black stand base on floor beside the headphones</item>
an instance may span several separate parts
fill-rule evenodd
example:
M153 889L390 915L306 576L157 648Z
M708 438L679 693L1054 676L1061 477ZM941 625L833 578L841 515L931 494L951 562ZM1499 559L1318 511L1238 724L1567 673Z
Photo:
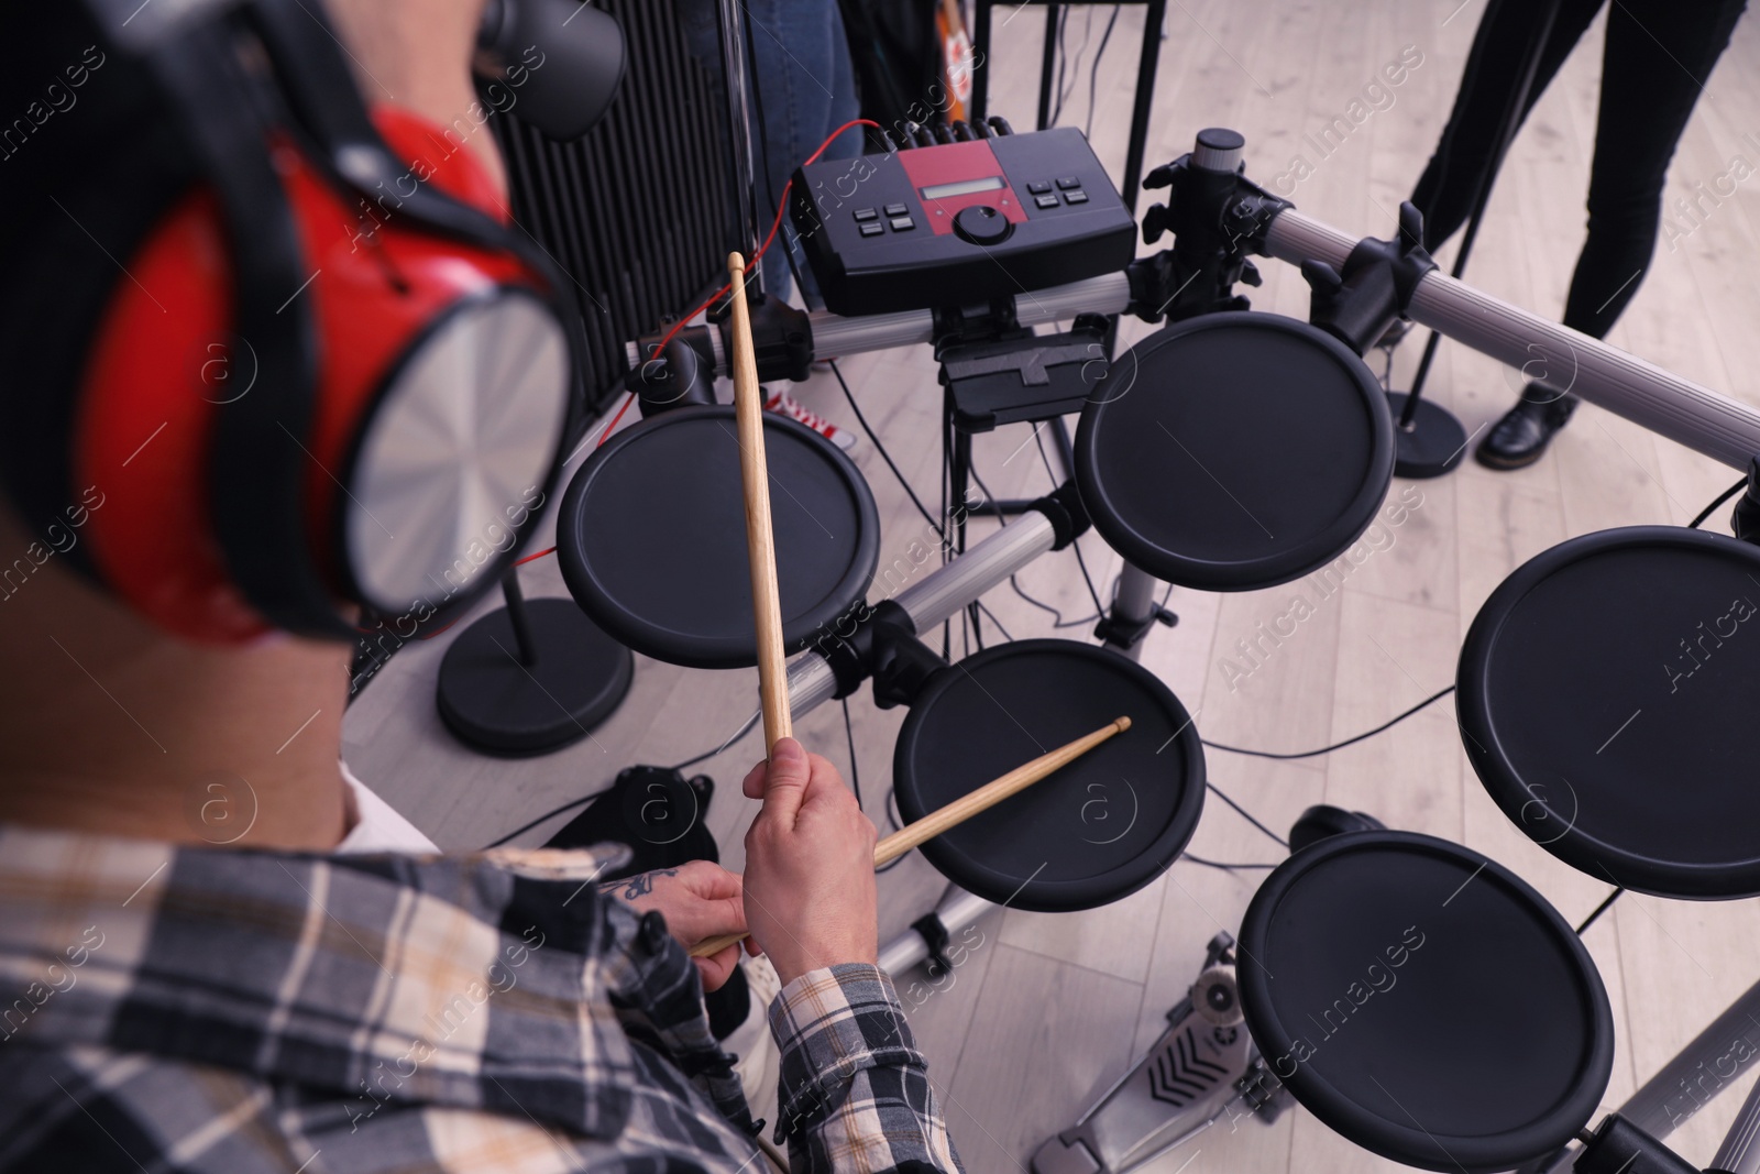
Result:
M472 750L528 757L586 737L630 692L635 658L567 598L530 604L509 572L507 607L459 632L435 702Z

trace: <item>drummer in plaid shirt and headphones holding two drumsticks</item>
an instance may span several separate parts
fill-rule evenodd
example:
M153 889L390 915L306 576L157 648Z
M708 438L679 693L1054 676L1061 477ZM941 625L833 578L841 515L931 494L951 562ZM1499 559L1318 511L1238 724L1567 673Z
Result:
M326 5L363 90L438 125L475 100L482 7ZM84 303L16 283L100 264L128 289L148 218L130 202L167 139L106 95L127 65L77 5L5 23L62 95L35 134L69 136L9 141L0 162L0 385L26 396L19 322L46 334ZM84 70L74 100L63 58ZM33 109L25 74L0 88ZM114 155L74 136L137 151L139 174L107 183ZM468 148L503 185L493 137ZM93 183L118 209L106 239L55 211ZM5 444L18 459L32 438ZM783 982L771 1135L788 1165L957 1169L875 966L875 829L829 762L785 739L746 776L762 810L744 878L697 862L602 891L621 848L398 850L419 833L338 762L347 642L172 635L74 567L102 489L60 537L16 505L0 502L0 561L23 567L0 588L0 1170L762 1169L702 1009L739 947L686 956L741 931Z

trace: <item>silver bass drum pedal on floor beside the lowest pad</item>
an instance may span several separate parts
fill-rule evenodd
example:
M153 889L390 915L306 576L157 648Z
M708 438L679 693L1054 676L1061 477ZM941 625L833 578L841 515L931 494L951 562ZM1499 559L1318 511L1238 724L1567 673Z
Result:
M1167 1012L1167 1031L1074 1126L1033 1155L1033 1174L1123 1174L1218 1121L1271 1125L1288 1093L1241 1021L1234 938L1209 942L1197 980Z

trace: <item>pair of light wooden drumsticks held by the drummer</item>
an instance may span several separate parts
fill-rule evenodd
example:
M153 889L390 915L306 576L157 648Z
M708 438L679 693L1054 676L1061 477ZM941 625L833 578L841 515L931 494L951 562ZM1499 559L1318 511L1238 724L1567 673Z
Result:
M727 259L732 275L734 308L734 415L739 426L739 477L746 500L746 549L752 556L752 609L759 635L759 697L764 706L764 753L776 748L776 739L794 737L794 720L788 713L788 671L783 664L781 597L776 590L776 540L769 514L769 465L764 458L764 401L759 389L759 364L752 349L752 313L746 308L746 262L739 253ZM926 840L963 824L979 811L996 806L1008 796L1026 790L1058 767L1082 757L1112 734L1130 729L1130 718L1116 718L1091 734L1058 746L1024 766L1017 766L998 780L929 811L875 845L875 868L894 861ZM725 950L746 935L709 938L692 949L693 958L708 958Z

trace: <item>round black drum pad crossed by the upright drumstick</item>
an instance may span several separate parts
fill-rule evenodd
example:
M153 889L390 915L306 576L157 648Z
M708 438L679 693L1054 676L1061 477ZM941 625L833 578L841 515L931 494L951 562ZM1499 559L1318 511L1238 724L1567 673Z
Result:
M576 602L655 660L757 664L734 408L690 407L607 440L576 473L556 556ZM796 421L764 414L781 630L799 651L873 579L880 521L855 465Z

